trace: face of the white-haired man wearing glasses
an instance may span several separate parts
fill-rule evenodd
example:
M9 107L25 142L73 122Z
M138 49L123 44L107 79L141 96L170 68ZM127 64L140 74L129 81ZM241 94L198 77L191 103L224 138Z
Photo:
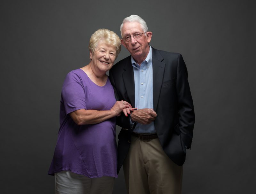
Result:
M125 22L122 28L122 35L135 35L136 33L144 33L140 23L138 22ZM132 57L135 60L145 60L148 52L149 52L149 45L148 43L151 40L152 33L147 32L142 34L142 36L138 39L131 36L131 40L129 42L125 42L123 39L121 43L124 47L131 53ZM141 61L142 62L142 61Z

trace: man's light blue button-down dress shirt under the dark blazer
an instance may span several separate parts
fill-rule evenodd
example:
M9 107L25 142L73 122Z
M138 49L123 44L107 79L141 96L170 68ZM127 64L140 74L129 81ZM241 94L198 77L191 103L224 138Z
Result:
M132 58L135 86L135 108L153 109L153 67L152 49L150 46L147 58L140 64ZM135 110L136 111L136 110ZM156 133L154 122L143 125L137 123L133 132L135 133Z

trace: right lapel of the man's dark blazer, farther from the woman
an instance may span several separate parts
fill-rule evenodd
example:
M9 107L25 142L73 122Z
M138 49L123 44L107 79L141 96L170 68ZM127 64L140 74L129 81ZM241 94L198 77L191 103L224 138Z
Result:
M164 58L158 50L152 47L152 63L153 63L153 103L154 110L157 109L158 99L164 78L165 63ZM134 85L134 84L133 84Z

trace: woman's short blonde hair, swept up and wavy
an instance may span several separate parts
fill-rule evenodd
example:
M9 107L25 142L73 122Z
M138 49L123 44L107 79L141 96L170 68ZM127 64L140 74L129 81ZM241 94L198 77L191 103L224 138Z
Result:
M104 28L98 29L92 34L90 38L89 50L92 51L92 53L94 52L100 40L103 40L107 44L114 46L116 48L116 58L117 58L118 54L121 51L121 40L119 36L111 30L104 29Z

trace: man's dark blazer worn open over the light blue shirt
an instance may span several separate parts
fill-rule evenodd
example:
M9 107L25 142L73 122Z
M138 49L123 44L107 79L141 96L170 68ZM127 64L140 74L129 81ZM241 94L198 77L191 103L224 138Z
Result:
M186 148L190 149L195 113L188 84L188 71L179 53L170 53L152 48L153 103L157 114L154 125L157 136L167 156L182 166ZM116 100L125 100L134 107L134 74L131 55L119 61L109 71ZM128 153L131 142L129 117L117 117L122 127L117 147L117 172Z

